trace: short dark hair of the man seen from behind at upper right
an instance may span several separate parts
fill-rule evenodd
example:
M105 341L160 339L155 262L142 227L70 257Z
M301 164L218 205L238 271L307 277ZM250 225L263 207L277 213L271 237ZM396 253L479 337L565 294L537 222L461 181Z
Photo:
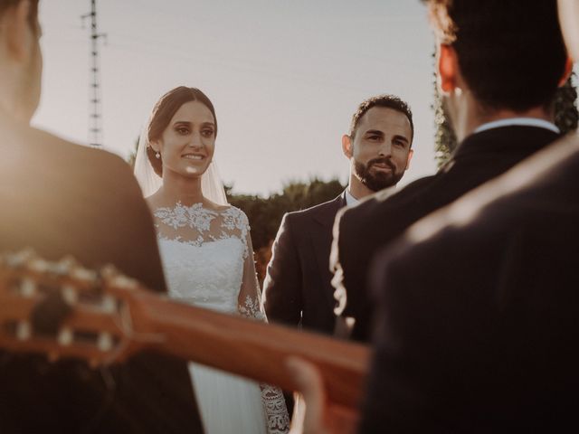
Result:
M422 0L483 109L548 107L565 73L556 0Z

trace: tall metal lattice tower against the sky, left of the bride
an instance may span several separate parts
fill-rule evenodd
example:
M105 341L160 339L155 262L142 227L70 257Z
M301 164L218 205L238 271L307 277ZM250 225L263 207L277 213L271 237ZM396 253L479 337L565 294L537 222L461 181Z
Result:
M81 15L82 27L90 18L90 83L89 83L89 143L90 146L102 146L102 111L100 100L99 39L107 38L106 33L97 31L97 2L90 0L90 13Z

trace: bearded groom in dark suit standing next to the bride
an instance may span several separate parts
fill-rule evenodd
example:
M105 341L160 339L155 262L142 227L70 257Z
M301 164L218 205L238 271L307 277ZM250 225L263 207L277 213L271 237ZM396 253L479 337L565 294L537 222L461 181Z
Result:
M270 320L334 333L329 253L336 213L377 191L383 196L394 193L413 156L413 133L413 114L402 99L378 95L360 103L342 137L342 150L350 160L346 191L327 203L289 212L281 222L263 282Z

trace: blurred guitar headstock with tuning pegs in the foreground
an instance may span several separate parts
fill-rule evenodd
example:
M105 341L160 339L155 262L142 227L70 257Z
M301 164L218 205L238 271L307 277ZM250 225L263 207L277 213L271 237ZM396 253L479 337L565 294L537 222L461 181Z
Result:
M131 317L139 290L111 267L50 262L32 250L0 256L0 347L94 367L122 362L144 346Z

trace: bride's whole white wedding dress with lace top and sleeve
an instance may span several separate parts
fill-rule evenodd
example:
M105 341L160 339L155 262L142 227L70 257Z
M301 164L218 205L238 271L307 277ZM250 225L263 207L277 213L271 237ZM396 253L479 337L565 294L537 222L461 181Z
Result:
M153 213L170 297L264 320L249 223L241 210L177 203ZM190 363L190 373L207 434L288 432L279 388L197 363Z

